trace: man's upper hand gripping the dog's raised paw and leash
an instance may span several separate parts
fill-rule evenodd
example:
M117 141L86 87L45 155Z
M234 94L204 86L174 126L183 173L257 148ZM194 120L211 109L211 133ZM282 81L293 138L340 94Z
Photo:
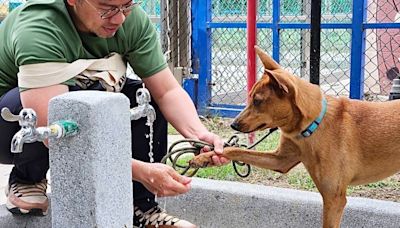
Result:
M201 141L214 145L214 152L217 155L212 156L213 164L211 165L220 166L220 165L226 165L229 162L227 158L221 156L223 153L224 141L218 135L207 131L206 133L201 134L199 136L199 139ZM201 153L209 151L211 151L211 149L208 146L205 146L203 149L201 149Z

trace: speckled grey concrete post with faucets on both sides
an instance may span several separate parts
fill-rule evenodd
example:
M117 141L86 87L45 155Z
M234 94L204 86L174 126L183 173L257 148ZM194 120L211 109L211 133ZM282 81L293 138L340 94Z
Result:
M74 120L80 131L50 140L52 227L132 227L128 98L66 93L50 101L49 123L57 120Z

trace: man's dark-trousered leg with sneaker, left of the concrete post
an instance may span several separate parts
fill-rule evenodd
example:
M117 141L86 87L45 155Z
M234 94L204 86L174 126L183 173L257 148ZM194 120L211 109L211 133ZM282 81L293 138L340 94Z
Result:
M19 114L22 105L18 88L8 91L0 99L0 109L4 107L16 115ZM46 214L48 201L45 195L45 179L49 169L48 149L42 142L35 142L24 144L22 153L11 153L11 139L20 129L18 122L7 122L0 118L0 163L14 164L9 177L7 208L13 213ZM21 193L21 189L27 191Z

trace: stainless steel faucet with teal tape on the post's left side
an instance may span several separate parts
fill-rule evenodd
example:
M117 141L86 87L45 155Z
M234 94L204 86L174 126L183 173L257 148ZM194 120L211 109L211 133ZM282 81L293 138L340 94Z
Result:
M11 140L11 152L21 153L25 143L44 141L48 138L61 138L75 135L78 132L78 125L73 121L58 121L48 127L38 127L37 115L33 109L24 108L19 115L14 115L8 108L1 110L4 120L18 121L21 126Z

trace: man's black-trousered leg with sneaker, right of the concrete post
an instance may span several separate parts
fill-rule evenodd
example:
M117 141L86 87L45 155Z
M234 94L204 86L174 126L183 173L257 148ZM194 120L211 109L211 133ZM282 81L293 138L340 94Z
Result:
M131 108L136 107L136 90L142 87L141 81L128 79L122 92L129 98ZM168 131L167 121L158 108L157 104L152 101L151 105L156 110L156 120L153 123L153 158L154 162L160 162L167 153ZM149 127L146 125L146 118L134 120L131 122L132 132L132 152L133 158L149 162ZM135 172L135 170L133 170ZM170 227L196 227L192 223L179 219L173 215L169 215L162 210L155 201L153 193L149 192L141 183L133 182L133 198L134 198L134 227L144 227L146 225L168 225Z

